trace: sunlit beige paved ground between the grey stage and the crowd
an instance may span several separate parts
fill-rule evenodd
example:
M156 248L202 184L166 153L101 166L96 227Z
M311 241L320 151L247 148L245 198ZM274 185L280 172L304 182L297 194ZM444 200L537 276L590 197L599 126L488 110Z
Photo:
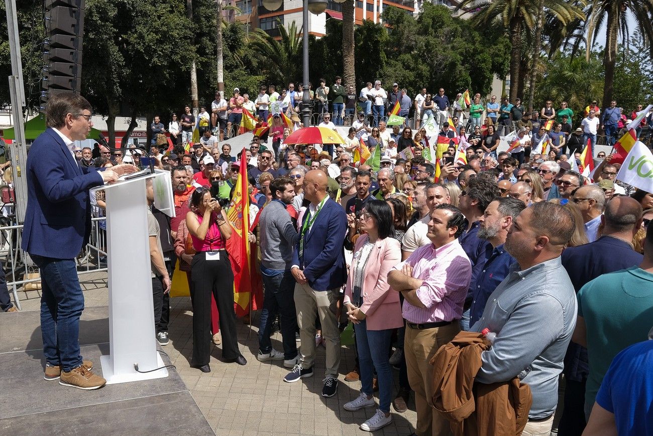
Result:
M86 307L108 304L106 273L82 276ZM40 292L21 292L23 310L39 310ZM192 350L192 312L188 297L176 297L171 302L170 344L163 347L185 382L193 398L206 416L210 426L219 435L362 435L358 426L374 414L375 409L347 412L342 405L358 395L360 383L343 381L344 375L354 365L351 347L342 348L340 386L338 394L323 398L322 378L324 348L319 348L315 375L293 384L284 383L288 372L279 363L261 363L258 352L257 320L249 327L238 322L238 343L247 359L242 367L236 363L223 363L220 347L214 347L211 356L212 372L204 374L189 366ZM272 344L281 350L281 336L276 333ZM394 371L395 386L397 371ZM378 398L377 398L378 401ZM411 410L413 409L413 410ZM404 413L393 411L394 422L375 434L409 435L413 432L417 416L414 403Z

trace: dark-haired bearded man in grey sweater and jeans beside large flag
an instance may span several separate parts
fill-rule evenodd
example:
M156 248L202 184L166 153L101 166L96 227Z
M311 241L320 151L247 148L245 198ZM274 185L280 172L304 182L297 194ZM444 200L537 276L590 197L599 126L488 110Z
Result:
M263 208L260 224L261 232L261 273L265 294L261 324L259 324L259 354L257 360L283 360L283 366L294 367L298 362L295 331L295 278L291 273L293 247L298 234L293 226L287 205L293 203L295 184L287 177L279 177L270 182L272 201ZM281 320L283 353L272 348L270 331L275 315Z

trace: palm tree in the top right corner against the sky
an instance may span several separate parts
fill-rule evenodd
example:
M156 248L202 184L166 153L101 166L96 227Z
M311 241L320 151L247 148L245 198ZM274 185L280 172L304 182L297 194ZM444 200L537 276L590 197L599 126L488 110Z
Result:
M586 58L589 58L590 50L605 22L603 107L608 107L613 99L619 34L622 44L628 44L631 35L628 12L634 18L633 23L639 28L642 42L648 46L649 56L653 57L653 0L593 0L585 9L586 20L578 27L582 34L586 35Z

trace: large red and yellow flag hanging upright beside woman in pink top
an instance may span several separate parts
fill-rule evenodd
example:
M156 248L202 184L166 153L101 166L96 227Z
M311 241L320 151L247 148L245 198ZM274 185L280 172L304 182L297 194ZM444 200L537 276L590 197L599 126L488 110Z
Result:
M247 189L247 157L240 156L240 171L236 189L231 199L227 219L233 231L227 239L227 252L234 273L234 310L236 316L245 316L249 312L251 298L251 256L249 253L249 190Z

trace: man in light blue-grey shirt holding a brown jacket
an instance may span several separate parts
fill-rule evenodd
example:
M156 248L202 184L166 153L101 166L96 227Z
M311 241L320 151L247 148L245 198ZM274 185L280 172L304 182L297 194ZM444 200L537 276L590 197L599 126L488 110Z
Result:
M496 333L481 355L475 381L507 382L519 376L530 386L533 402L525 435L549 434L558 405L558 376L577 313L573 284L560 254L575 225L571 212L554 203L541 201L524 209L508 229L504 245L517 263L471 327Z

